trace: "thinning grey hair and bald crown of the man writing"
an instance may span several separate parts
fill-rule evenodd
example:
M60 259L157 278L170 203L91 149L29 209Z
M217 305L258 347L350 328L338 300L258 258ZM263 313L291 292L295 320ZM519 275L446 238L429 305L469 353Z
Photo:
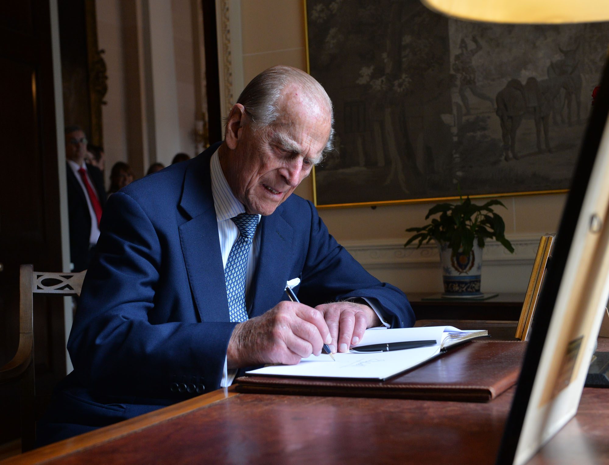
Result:
M301 69L283 65L265 69L245 86L237 103L243 105L252 120L252 128L257 130L272 126L285 108L280 107L282 101L286 97L289 98L286 93L294 94L294 92L300 93L311 105L316 105L316 111L329 115L330 136L324 153L332 151L334 138L332 101L322 85Z

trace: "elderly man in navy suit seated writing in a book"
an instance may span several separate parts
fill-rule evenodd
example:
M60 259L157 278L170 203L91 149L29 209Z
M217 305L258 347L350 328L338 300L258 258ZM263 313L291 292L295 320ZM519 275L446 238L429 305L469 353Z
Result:
M331 149L332 104L276 66L231 109L225 140L108 199L69 338L74 372L46 442L228 386L239 371L347 352L414 323L406 296L329 235L294 189ZM289 302L286 282L302 303Z

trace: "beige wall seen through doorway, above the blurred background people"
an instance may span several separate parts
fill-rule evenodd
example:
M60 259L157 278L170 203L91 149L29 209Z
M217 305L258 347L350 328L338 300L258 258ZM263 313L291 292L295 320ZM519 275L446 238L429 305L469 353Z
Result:
M107 187L116 162L130 163L140 177L150 163L168 165L177 152L195 155L196 107L202 104L195 96L196 1L146 0L147 15L142 0L96 2L108 74L102 107ZM157 70L154 76L150 69Z

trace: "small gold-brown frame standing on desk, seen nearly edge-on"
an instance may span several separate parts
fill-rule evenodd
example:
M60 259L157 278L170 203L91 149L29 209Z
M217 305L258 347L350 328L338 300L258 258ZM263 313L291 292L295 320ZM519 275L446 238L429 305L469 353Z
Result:
M527 292L524 296L523 310L520 313L518 327L516 327L515 337L521 339L521 341L529 340L529 330L533 320L533 313L535 313L535 306L537 305L541 284L543 283L546 272L547 261L552 256L554 236L554 234L545 234L541 236L539 241L537 255L535 255L533 270L531 271L531 277L529 279L529 286L527 286Z

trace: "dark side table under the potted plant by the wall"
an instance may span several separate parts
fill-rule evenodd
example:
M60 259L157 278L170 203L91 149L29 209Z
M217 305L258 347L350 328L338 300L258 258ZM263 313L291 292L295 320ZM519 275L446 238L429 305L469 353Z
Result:
M438 293L406 293L417 320L518 321L524 294L500 293L488 300L423 300Z

